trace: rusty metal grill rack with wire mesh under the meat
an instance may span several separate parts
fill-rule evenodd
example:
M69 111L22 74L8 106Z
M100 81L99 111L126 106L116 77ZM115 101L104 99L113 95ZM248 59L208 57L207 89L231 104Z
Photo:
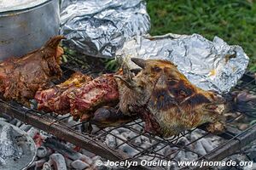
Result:
M80 63L81 60L84 60L84 62L89 65ZM80 59L68 58L67 62L62 64L62 70L64 74L61 81L70 77L74 71L81 71L84 74L90 74L93 77L96 77L96 75L101 71L107 71L102 67L101 59L90 59L84 56L81 56ZM255 77L253 77L251 73L246 73L234 90L248 90L251 93L256 94ZM204 127L198 127L180 133L172 138L163 139L149 133L144 133L144 123L140 119L119 127L108 127L91 131L89 129L88 122L76 122L70 124L67 121L71 118L69 114L65 116L58 116L54 113L44 113L37 111L36 109L28 109L15 102L4 101L3 99L0 99L0 111L7 116L12 116L22 122L31 124L33 127L38 127L47 133L55 135L59 139L73 143L110 161L127 160L140 162L146 159L148 161L164 160L175 163L177 162L176 157L181 152L196 155L197 159L193 161L221 161L225 157L237 153L237 151L241 152L244 146L256 139L256 125L247 127L247 129L243 131L234 126L234 122L237 120L247 119L247 116L240 112L231 113L232 116L228 118L226 122L227 130L218 136L212 133L207 133L203 130ZM116 130L130 131L132 133L131 135L120 137L119 135L116 135ZM196 138L191 138L189 143L181 142L183 137L190 138L194 133L197 133L197 136ZM117 144L107 144L107 136L110 139L118 141ZM212 138L216 138L221 141L213 150L204 155L195 150L193 144L201 139ZM149 143L142 146L137 144L137 139L147 139ZM125 151L124 148L126 148L126 150L133 150L133 154ZM160 167L154 167L154 169L157 168ZM196 167L183 167L183 169L189 168ZM129 169L153 169L153 167L136 166L130 167Z

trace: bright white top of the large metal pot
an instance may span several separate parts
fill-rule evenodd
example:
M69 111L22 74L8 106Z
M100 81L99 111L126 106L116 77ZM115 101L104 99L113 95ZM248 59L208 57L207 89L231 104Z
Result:
M0 13L36 7L50 0L0 0Z

